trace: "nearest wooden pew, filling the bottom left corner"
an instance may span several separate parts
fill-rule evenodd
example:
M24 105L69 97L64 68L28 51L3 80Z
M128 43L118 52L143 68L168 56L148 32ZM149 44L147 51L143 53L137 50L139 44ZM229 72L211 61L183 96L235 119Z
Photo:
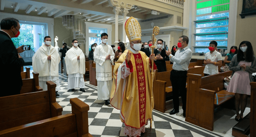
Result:
M1 137L92 137L88 129L89 106L70 99L71 114L64 114L0 131Z

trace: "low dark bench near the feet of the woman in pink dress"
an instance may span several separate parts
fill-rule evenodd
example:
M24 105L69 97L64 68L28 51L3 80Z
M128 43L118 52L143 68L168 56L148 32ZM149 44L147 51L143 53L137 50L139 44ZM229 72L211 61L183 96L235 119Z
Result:
M250 113L247 114L241 121L239 121L232 128L232 136L234 137L248 137L247 131L250 129Z

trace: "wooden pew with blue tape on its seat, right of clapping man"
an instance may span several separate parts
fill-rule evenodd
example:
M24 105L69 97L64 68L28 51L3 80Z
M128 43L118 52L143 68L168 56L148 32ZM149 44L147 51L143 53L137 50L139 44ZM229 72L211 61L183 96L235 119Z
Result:
M187 122L213 130L214 106L234 98L234 93L224 90L224 78L231 74L232 71L205 77L203 74L187 74Z

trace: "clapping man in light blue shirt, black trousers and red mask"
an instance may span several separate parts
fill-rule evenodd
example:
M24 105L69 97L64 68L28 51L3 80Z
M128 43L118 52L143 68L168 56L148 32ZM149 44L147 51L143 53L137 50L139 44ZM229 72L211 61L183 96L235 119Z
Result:
M187 36L181 36L179 38L178 47L179 50L172 55L171 51L166 51L166 55L169 56L170 61L173 63L173 70L171 71L171 82L173 86L173 105L174 109L170 114L179 113L179 91L182 98L183 116L186 117L186 100L187 100L187 71L189 70L189 64L192 57L192 51L188 47L189 38Z

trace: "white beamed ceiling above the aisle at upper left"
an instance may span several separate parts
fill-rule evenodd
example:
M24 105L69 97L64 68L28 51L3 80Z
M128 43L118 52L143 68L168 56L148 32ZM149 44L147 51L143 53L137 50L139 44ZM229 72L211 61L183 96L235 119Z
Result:
M31 12L37 12L38 15L45 13L48 17L53 18L61 18L64 15L79 15L87 22L115 23L115 14L111 12L113 7L110 7L108 0L51 0L51 2L47 1L48 3L44 0L0 0L0 2L0 10L2 11L8 8L13 9L14 12L25 11L28 15ZM145 19L147 14L151 14L151 11L141 7L135 10L134 5L129 10L129 16L138 20ZM119 13L118 23L123 23L121 13Z

